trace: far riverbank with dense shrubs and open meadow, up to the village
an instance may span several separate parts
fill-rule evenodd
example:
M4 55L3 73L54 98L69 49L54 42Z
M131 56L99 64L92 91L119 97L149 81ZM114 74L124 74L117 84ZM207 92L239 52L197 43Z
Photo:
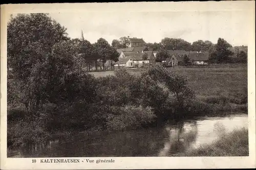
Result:
M131 71L136 74L130 74ZM120 70L115 76L78 76L79 81L66 91L69 93L63 93L63 98L73 96L74 101L43 105L36 114L27 112L18 102L13 103L15 106L8 103L8 147L40 142L56 131L127 131L159 127L167 119L179 122L200 116L224 116L233 111L247 113L245 65L152 67L143 76L141 69ZM184 95L178 99L173 87Z

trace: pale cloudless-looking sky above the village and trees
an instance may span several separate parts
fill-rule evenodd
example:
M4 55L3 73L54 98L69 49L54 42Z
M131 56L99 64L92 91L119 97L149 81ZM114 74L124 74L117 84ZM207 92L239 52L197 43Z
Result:
M65 12L50 16L67 28L71 38L91 43L99 38L110 44L123 36L160 42L164 37L182 38L190 43L224 38L231 45L247 45L249 23L246 11L140 11L140 12Z

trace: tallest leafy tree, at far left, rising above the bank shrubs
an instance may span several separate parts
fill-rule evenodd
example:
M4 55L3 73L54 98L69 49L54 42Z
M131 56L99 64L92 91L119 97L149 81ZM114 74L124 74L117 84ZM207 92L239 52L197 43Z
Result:
M46 67L52 61L53 46L68 39L66 28L46 13L18 14L8 22L8 64L13 68L19 93L24 94L20 101L28 110L38 110L46 101Z

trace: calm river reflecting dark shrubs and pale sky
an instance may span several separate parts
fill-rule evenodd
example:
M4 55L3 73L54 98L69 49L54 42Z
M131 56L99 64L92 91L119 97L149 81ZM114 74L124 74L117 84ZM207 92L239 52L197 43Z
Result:
M91 135L62 135L46 143L27 145L15 157L118 157L172 156L201 144L210 144L220 133L248 127L246 114L202 117L178 125Z

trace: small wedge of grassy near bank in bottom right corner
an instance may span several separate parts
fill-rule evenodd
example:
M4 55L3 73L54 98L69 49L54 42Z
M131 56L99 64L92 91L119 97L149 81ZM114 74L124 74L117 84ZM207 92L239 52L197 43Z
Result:
M200 145L198 149L173 156L249 156L248 129L234 129L229 133L220 134L211 144Z

